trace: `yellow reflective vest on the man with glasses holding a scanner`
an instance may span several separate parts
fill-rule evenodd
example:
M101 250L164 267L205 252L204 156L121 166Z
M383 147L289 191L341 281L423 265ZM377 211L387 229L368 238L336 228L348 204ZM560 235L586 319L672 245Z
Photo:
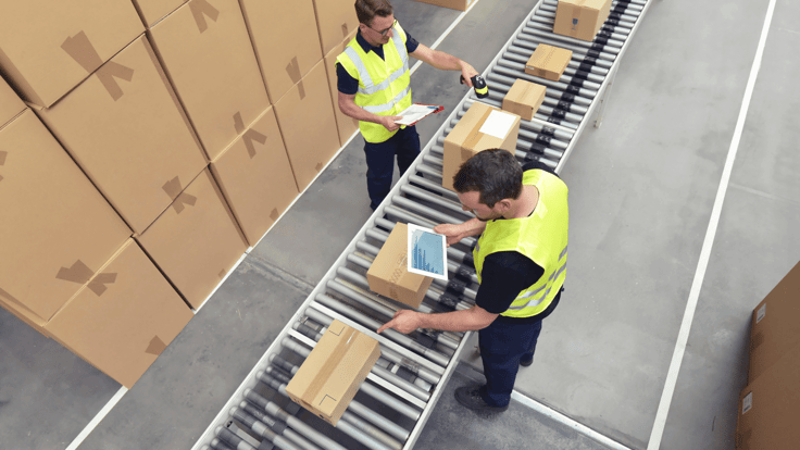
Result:
M405 50L405 32L400 24L392 28L393 45L384 46L384 59L374 51L364 52L355 37L336 61L350 76L359 79L355 104L377 115L397 115L411 107L411 74ZM372 122L359 121L359 129L367 142L383 142L397 133Z

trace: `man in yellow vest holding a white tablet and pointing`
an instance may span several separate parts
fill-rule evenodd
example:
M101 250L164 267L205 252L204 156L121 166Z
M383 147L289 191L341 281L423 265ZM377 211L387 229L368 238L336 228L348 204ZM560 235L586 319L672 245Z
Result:
M411 333L479 329L486 385L461 387L455 398L474 410L505 411L520 365L533 363L541 321L559 303L566 276L567 188L541 163L521 167L505 150L485 150L461 165L453 186L463 224L434 228L448 246L480 235L473 251L480 286L475 307L440 314L400 310L378 328Z

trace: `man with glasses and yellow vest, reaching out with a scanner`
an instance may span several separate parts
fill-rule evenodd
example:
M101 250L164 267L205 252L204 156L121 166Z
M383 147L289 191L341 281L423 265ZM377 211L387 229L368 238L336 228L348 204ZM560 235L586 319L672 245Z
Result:
M395 123L411 105L409 55L436 68L477 75L472 65L418 43L400 27L387 0L357 0L359 32L336 59L339 109L359 121L366 154L366 189L375 210L391 189L397 165L402 175L420 154L414 126Z

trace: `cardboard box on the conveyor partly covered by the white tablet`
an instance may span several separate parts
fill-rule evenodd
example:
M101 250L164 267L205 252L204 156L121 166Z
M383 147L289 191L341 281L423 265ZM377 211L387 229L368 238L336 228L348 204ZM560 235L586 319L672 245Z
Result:
M370 290L420 308L433 277L409 272L409 226L398 223L366 272Z

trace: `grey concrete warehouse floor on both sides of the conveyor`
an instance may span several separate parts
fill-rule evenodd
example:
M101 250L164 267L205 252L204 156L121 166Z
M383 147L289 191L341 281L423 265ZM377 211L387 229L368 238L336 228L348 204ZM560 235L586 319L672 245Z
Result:
M561 174L571 189L567 290L517 389L629 448L650 439L767 3L655 0L602 127L586 129ZM426 45L459 15L393 4ZM535 4L479 0L439 49L483 71ZM800 91L790 79L800 63L788 58L800 45L798 16L800 4L777 1L664 450L734 448L750 312L800 260L800 132L791 118ZM447 111L465 92L458 74L428 66L412 88L416 101ZM445 117L423 122L423 143ZM370 216L362 146L355 137L342 150L80 450L195 443ZM0 438L24 449L66 448L120 389L2 310L0 380ZM461 374L452 379L416 448L603 448L518 403L478 417L452 399L461 383Z

